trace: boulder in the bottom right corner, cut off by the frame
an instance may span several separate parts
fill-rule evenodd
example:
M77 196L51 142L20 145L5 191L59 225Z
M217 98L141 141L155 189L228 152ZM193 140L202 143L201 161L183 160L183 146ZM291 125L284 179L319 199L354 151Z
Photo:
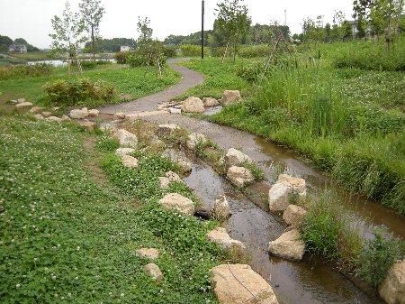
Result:
M405 304L405 260L392 265L378 292L388 304Z

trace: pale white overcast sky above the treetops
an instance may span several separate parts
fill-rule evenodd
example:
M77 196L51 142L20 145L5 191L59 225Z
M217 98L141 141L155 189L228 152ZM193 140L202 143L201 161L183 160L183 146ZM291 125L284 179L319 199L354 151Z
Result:
M61 16L67 0L0 0L0 35L11 39L24 38L41 49L49 48L50 19ZM79 0L68 1L78 11ZM205 0L205 30L211 30L215 8L222 0ZM302 32L302 19L324 16L331 23L335 11L352 19L353 0L244 0L252 23L277 21L287 25L292 33ZM103 38L138 37L138 16L150 19L153 36L163 41L169 34L187 35L201 31L201 0L102 0L105 8L100 33Z

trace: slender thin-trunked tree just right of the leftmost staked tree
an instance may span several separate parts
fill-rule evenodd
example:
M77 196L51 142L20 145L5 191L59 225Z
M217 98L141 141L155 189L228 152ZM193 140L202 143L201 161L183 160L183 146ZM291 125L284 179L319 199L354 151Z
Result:
M100 22L105 11L100 0L82 0L79 7L85 22L85 31L90 35L93 60L95 60L94 42L100 37Z

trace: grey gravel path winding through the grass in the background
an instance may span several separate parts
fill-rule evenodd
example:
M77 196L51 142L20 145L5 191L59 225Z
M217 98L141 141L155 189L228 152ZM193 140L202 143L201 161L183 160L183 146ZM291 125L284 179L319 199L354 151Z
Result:
M118 112L130 114L134 112L157 110L158 104L170 101L172 98L184 93L189 88L195 87L204 80L202 74L191 69L180 67L176 64L185 60L189 59L178 58L167 60L167 64L171 69L175 69L175 71L182 74L183 78L179 84L171 88L166 88L166 90L157 92L156 94L149 95L147 97L141 97L137 100L125 102L119 105L103 106L98 108L98 110L103 114L114 114Z

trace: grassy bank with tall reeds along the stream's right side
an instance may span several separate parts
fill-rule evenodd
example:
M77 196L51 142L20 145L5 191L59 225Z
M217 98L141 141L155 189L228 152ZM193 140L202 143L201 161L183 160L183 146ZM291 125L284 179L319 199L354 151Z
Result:
M299 62L307 55L297 56ZM293 148L331 172L346 189L405 215L404 75L336 69L334 59L312 59L300 69L272 66L266 78L250 84L240 82L244 79L236 75L238 66L193 60L188 66L198 65L207 80L188 95L203 96L217 82L238 78L231 88L241 89L244 100L207 119Z

